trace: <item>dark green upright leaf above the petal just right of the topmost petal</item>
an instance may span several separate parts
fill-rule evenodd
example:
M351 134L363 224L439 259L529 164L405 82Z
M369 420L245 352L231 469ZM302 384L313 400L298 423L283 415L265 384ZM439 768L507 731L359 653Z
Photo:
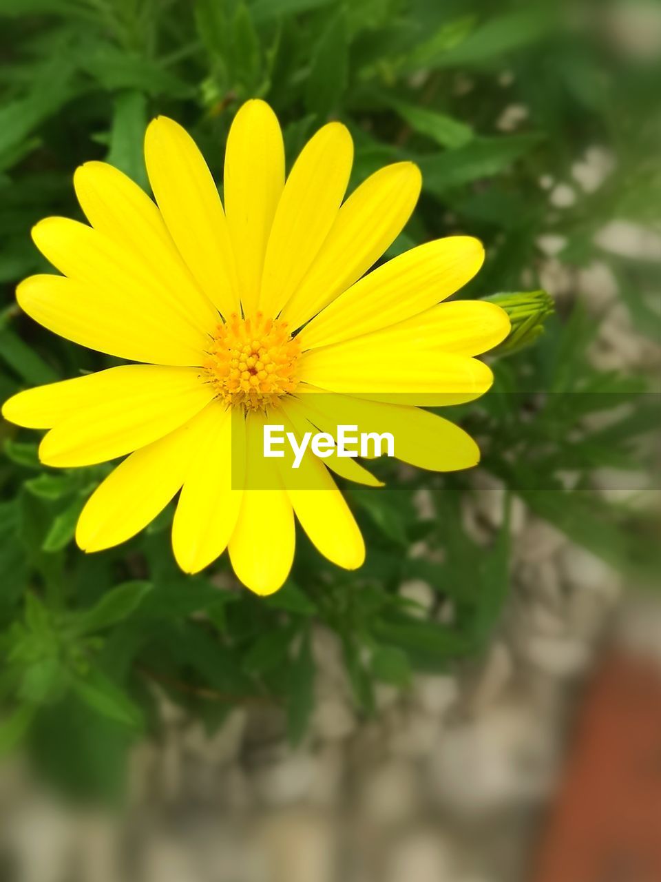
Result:
M332 19L319 41L308 75L306 106L325 117L339 107L349 75L349 45L343 10Z

